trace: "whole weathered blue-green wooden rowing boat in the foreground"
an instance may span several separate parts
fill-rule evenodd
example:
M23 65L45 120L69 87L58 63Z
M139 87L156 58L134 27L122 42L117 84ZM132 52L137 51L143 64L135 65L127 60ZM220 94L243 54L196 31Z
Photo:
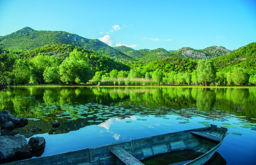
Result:
M203 165L224 141L226 134L227 128L211 125L5 165ZM175 159L177 157L182 159Z

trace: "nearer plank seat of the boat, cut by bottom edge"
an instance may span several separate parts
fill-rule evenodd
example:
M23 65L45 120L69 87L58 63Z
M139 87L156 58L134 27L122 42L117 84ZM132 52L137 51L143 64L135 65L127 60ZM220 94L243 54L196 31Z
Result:
M144 165L121 147L110 150L125 165Z

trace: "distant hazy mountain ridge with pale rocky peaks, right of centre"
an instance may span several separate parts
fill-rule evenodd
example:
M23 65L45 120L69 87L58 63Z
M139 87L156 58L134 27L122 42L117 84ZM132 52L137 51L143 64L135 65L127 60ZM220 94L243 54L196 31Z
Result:
M181 58L190 58L190 59L209 59L217 56L222 56L224 54L231 53L230 50L222 46L211 46L204 48L202 50L196 50L189 47L183 47L179 50L170 50L167 51L164 48L157 48L155 50L141 49L134 50L126 46L117 46L114 47L116 50L130 56L139 61L152 62L157 59L164 59L168 57L181 57Z

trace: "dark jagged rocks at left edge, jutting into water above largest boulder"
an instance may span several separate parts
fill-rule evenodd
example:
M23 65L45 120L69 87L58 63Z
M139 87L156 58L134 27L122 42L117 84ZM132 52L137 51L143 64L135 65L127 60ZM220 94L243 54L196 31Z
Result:
M1 124L6 123L7 121L13 122L16 127L28 124L28 119L15 117L15 116L11 115L9 111L1 111L0 112Z

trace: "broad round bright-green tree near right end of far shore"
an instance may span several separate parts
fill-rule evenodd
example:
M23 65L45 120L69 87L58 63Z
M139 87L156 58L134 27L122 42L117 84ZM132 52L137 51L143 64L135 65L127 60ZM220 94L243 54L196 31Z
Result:
M246 70L241 67L234 68L231 75L232 81L237 85L248 83L249 75Z

